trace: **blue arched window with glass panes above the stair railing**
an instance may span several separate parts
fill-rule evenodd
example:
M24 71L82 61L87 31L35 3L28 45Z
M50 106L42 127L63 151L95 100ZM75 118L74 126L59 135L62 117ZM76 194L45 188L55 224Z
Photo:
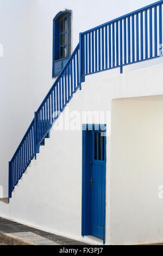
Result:
M53 77L60 74L71 56L71 11L60 11L53 20Z

